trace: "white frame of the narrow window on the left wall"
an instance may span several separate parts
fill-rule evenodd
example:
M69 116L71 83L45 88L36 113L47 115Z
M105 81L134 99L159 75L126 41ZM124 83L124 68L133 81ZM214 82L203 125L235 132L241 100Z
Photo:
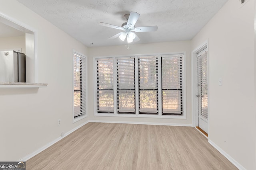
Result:
M84 115L80 115L80 116L78 116L78 117L75 117L75 112L74 112L74 55L78 55L78 56L80 56L80 57L82 57L82 58L84 58L85 59L85 66L86 66L86 68L85 68L85 70L84 70L84 74L85 74L85 76L86 76L86 80L82 80L82 82L84 82L85 83L85 93L86 93L86 96L85 96L85 107L86 107L86 110L85 110L85 114ZM85 117L87 117L88 116L88 58L87 58L87 56L86 55L83 55L82 53L80 53L80 52L78 52L78 51L76 51L76 50L74 50L73 49L73 51L72 51L72 105L73 105L73 123L75 123L75 122L77 122L77 121L79 121L79 120L81 120L81 119L84 119ZM81 92L82 92L82 89L81 89Z

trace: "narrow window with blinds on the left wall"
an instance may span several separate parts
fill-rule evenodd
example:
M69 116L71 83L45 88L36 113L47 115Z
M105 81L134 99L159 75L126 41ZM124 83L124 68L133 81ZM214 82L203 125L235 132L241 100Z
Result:
M86 115L86 57L73 53L74 119Z

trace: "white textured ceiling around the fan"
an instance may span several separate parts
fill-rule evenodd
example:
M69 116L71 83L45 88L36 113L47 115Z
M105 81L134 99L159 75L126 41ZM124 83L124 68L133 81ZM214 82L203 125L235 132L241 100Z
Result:
M190 40L227 1L18 0L88 47L125 44L118 38L108 39L120 30L99 22L121 26L130 12L140 14L135 27L158 26L155 32L136 33L140 37L136 43Z

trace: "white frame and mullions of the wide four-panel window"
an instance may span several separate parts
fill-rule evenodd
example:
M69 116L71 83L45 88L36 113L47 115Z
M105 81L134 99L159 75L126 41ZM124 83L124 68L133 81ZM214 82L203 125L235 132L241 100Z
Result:
M182 115L163 115L162 114L162 67L161 56L162 55L183 55L182 61ZM139 114L138 112L138 57L143 56L158 56L158 114ZM114 113L97 113L97 67L96 59L113 58L113 62L116 63L116 58L120 57L135 57L135 96L136 96L136 113L125 114L117 113L117 73L116 64L113 65L113 83L114 83ZM94 116L107 116L107 117L145 117L145 118L170 118L170 119L186 119L186 52L174 52L174 53L151 53L151 54L139 54L139 55L113 55L113 56L99 56L93 57L93 92L94 92Z

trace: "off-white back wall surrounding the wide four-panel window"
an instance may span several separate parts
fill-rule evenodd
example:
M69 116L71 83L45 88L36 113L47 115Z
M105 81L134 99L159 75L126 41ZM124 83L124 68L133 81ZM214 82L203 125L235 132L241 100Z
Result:
M93 107L89 109L90 121L116 121L116 122L130 122L130 123L155 123L155 124L182 124L191 125L191 59L190 59L190 41L176 41L166 43L150 43L150 44L137 44L129 45L129 49L124 45L111 46L111 47L90 47L88 48L89 54L89 76L88 86L93 89L93 57L95 56L109 56L109 55L138 55L138 54L155 54L155 53L172 53L172 52L186 52L186 110L187 119L163 119L163 118L138 118L138 117L100 117L94 116ZM90 98L93 99L93 91L89 91ZM89 101L89 106L93 106L93 100Z

